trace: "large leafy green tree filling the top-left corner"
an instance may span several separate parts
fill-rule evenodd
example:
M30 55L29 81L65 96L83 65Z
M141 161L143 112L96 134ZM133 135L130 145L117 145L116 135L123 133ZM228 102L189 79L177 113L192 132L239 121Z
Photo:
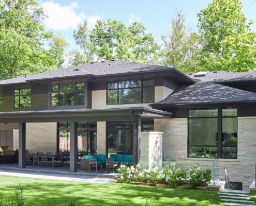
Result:
M44 31L43 10L34 0L0 1L0 78L25 76L56 68L56 61L42 48L51 36Z

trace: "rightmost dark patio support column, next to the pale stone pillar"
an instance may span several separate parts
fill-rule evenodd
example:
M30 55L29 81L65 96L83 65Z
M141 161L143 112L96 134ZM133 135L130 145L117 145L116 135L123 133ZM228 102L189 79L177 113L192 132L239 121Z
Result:
M133 164L137 165L141 156L141 116L134 115L133 117Z

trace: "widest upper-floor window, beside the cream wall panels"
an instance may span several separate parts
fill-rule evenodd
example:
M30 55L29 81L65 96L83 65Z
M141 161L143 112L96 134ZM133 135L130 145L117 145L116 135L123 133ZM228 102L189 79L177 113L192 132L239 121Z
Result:
M153 103L154 79L108 82L107 105Z

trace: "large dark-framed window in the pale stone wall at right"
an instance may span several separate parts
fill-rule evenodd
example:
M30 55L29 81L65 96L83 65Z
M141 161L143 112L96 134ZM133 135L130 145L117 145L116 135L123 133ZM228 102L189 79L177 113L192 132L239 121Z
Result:
M188 157L237 158L237 108L188 110Z

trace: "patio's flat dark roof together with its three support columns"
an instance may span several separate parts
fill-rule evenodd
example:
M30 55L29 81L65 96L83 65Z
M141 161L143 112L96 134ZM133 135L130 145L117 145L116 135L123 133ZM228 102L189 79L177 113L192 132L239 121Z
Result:
M141 119L172 118L173 114L156 109L113 108L113 109L73 109L0 112L0 123L19 124L19 163L18 168L30 168L26 165L26 123L68 122L70 124L70 164L69 172L78 172L78 123L79 122L117 122L132 121L132 158L133 164L139 162L141 156ZM45 128L46 130L48 128ZM104 128L106 130L106 128ZM107 144L107 140L105 140ZM107 148L107 145L106 147ZM46 151L45 151L46 152ZM108 155L107 149L104 153ZM3 165L0 165L1 167ZM50 167L47 167L50 169ZM52 169L52 168L51 168ZM63 168L64 169L64 168Z

